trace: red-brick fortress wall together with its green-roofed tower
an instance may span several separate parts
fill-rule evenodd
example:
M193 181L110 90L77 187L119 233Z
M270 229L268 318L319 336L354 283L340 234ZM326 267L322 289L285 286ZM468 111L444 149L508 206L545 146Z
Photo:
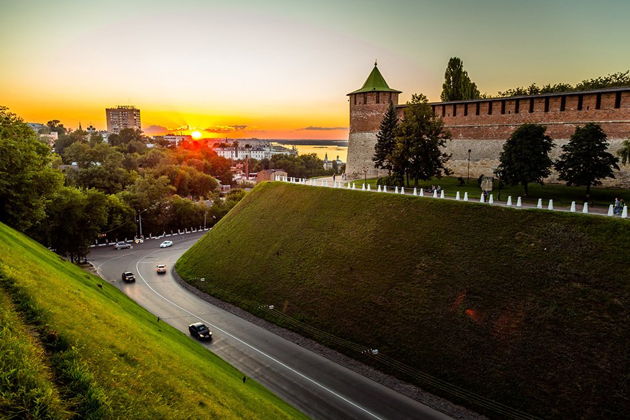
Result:
M350 178L382 176L374 168L372 157L383 115L390 102L398 116L404 117L406 105L398 105L399 91L390 89L380 72L382 83L370 86L376 66L364 87L348 94L350 97L350 136L348 164ZM382 89L382 90L379 90ZM433 102L433 113L444 120L453 140L446 147L452 157L449 167L455 176L492 175L499 165L503 143L521 124L536 123L547 127L547 134L556 147L552 158L561 152L575 128L589 122L601 125L608 135L611 153L623 140L630 138L630 87L583 92L563 92L534 96L487 98L470 101ZM469 156L470 151L470 156ZM630 171L622 168L615 179L604 181L611 186L630 186ZM548 182L556 182L552 175Z

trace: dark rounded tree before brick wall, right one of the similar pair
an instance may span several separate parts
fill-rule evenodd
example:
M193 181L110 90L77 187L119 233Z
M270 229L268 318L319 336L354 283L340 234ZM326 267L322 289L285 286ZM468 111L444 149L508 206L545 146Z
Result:
M604 130L595 123L577 127L569 143L562 146L562 154L555 164L559 178L567 185L591 186L601 184L600 179L614 178L613 169L619 169L619 159L608 153L608 139Z

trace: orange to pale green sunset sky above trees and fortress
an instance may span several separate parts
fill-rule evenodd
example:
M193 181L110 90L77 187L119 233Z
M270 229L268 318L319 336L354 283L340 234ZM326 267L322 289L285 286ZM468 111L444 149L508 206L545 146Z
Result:
M482 92L630 68L630 1L1 0L0 105L29 122L345 139L374 60L439 100L449 57Z

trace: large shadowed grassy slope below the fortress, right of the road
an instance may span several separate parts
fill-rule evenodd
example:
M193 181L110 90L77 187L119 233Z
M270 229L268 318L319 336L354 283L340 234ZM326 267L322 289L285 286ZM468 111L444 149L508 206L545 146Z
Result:
M177 270L529 413L613 418L629 240L618 219L265 183Z

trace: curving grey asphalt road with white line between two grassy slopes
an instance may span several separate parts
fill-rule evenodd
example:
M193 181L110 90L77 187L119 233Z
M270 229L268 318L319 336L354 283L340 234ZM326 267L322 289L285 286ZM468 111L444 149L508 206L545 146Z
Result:
M449 418L183 288L170 269L201 235L169 238L174 245L164 249L159 248L159 240L120 251L94 248L89 260L101 277L184 333L188 334L189 324L204 322L214 340L203 345L313 418ZM167 265L167 274L156 273L158 263ZM136 274L136 282L122 283L123 271Z

